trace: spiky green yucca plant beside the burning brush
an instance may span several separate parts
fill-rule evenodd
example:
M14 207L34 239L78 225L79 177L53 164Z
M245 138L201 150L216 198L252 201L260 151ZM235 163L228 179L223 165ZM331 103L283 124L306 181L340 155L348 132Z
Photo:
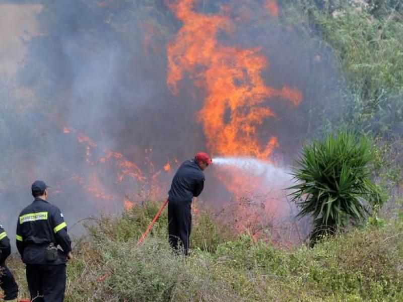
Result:
M372 206L382 204L380 190L370 179L372 159L368 139L346 131L303 148L292 172L298 184L288 189L301 207L298 216L314 218L311 246L324 235L360 222Z

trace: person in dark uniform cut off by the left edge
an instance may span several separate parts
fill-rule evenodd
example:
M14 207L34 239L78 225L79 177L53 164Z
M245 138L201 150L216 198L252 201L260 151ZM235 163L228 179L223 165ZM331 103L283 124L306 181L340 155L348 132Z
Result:
M17 301L18 285L5 262L10 253L10 239L0 224L0 287L4 291L5 301Z

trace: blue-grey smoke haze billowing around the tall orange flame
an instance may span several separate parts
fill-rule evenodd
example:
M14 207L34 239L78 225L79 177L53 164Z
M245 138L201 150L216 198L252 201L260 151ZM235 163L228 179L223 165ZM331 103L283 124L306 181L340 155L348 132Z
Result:
M279 139L273 156L278 165L290 165L301 142L343 114L343 79L326 45L292 20L270 16L262 3L203 1L195 10L229 14L233 31L220 32L218 41L260 47L269 62L265 82L301 91L297 108L267 100L276 118L259 126L262 144L271 135ZM167 88L166 47L181 23L164 2L9 1L0 3L0 13L8 15L0 36L0 58L7 63L0 69L0 219L10 234L32 200L35 179L51 187L50 201L73 225L88 215L121 211L125 198L164 198L178 164L209 151L197 122L206 92L190 81L195 75L184 77L177 96ZM24 23L22 16L28 16ZM313 109L318 114L307 118ZM219 209L231 193L216 169L206 176L201 199Z

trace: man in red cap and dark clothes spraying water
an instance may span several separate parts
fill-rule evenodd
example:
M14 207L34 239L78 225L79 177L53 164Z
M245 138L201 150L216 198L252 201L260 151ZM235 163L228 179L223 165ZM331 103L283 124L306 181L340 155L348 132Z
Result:
M178 251L182 244L183 253L189 254L191 232L191 203L204 188L203 171L213 162L206 153L197 153L193 160L182 163L176 172L168 197L168 232L171 247Z

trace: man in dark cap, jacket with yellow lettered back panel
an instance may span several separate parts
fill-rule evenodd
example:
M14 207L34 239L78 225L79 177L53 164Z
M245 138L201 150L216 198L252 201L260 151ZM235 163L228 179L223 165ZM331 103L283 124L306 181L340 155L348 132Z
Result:
M63 301L66 261L73 258L67 224L59 208L46 201L47 188L43 181L32 184L35 200L22 210L17 222L17 248L35 302Z

